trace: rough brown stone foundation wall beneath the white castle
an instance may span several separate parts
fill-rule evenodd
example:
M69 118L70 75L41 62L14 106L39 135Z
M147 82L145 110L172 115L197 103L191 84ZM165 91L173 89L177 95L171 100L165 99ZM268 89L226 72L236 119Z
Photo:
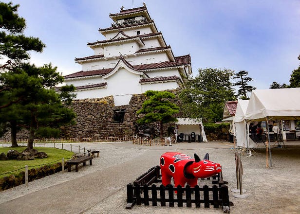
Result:
M179 90L169 90L177 95ZM142 117L137 115L136 111L142 108L146 100L144 94L134 94L131 97L129 105L115 107L113 96L96 99L74 100L71 107L74 109L76 125L61 127L61 138L80 138L80 137L123 137L132 136L137 133L138 125L135 121ZM174 101L179 105L178 99ZM123 123L113 121L114 110L126 109ZM180 117L180 114L175 115ZM170 125L164 125L164 135ZM156 124L155 124L156 127ZM155 128L157 129L157 128ZM155 130L156 131L156 130ZM27 139L28 131L21 130L17 134L17 139ZM10 140L10 132L7 132L2 139Z

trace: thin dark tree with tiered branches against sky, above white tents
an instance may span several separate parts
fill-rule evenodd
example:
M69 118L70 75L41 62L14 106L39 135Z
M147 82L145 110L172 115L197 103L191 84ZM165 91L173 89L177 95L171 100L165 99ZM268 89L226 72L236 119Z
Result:
M233 84L233 86L239 86L238 96L240 96L242 100L249 99L247 97L247 92L251 92L256 88L248 85L248 82L253 81L251 77L248 77L248 71L240 71L236 73L234 79L240 79L238 82Z

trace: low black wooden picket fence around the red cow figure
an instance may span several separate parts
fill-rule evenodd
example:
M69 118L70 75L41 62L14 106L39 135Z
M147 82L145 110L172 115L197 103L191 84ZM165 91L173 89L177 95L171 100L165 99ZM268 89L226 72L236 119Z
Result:
M157 206L158 202L161 206L166 206L166 203L169 203L169 207L174 207L174 203L177 203L178 207L183 207L183 204L192 207L192 204L195 204L195 207L198 208L203 204L205 208L209 208L210 205L213 208L222 206L224 213L229 213L228 188L222 184L222 181L219 183L219 185L221 184L219 187L217 185L212 187L196 185L192 188L189 185L173 187L172 185L156 186L152 184L161 182L159 178L161 178L160 167L155 166L137 178L133 184L128 184L126 208L131 209L134 204L141 205L142 203L149 206L150 202L152 206ZM213 182L216 183L217 180L220 181L220 175L215 176Z

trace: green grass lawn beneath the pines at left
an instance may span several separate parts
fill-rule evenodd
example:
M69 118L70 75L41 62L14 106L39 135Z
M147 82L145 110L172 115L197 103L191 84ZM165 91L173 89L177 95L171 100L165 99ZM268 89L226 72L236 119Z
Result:
M22 152L24 149L26 149L26 146L18 146L18 147L0 147L0 153L4 152L7 154L8 150L17 150L18 152ZM64 149L57 149L57 148L48 148L48 147L34 147L34 149L38 150L39 152L45 152L48 155L48 158L45 159L38 159L35 160L0 160L0 178L9 176L11 174L19 174L21 171L25 171L23 167L25 165L28 165L28 169L31 168L38 168L41 165L47 165L48 163L54 163L54 162L61 162L62 158L65 160L68 160L72 158L72 155L74 154L71 151L67 151ZM22 169L20 169L22 168ZM7 172L11 172L14 170L20 169L18 171L4 174ZM4 175L2 175L4 174Z

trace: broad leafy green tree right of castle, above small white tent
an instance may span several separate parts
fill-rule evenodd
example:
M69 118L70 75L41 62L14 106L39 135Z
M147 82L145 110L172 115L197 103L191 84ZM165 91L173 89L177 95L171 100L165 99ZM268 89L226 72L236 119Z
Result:
M233 75L228 69L199 69L199 74L189 78L179 94L183 117L221 121L225 102L236 99L230 82Z

